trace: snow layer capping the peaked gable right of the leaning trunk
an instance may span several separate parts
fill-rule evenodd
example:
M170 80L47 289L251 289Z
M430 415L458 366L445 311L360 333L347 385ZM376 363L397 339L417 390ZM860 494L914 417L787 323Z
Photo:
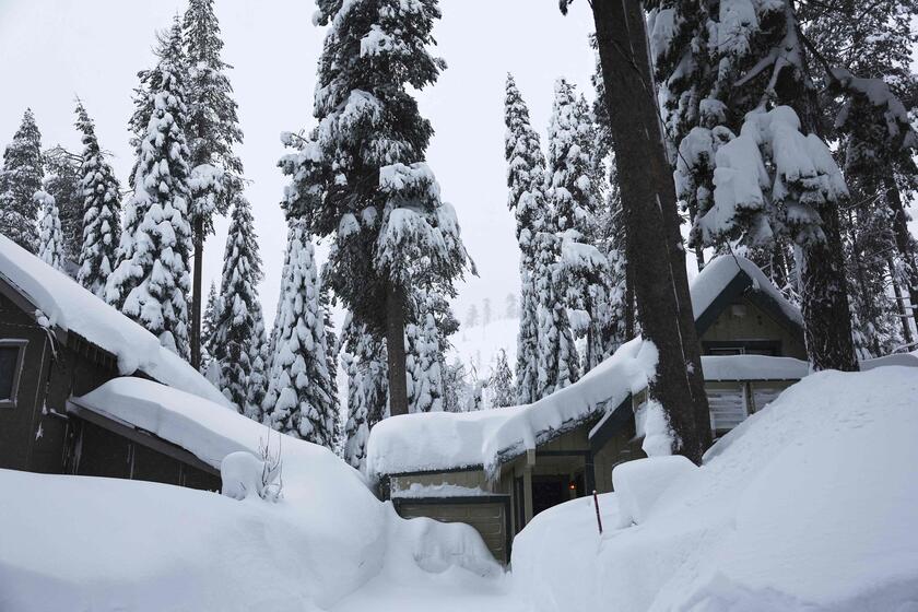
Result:
M695 315L695 320L698 320L698 317L714 304L717 296L727 289L727 285L740 271L749 274L753 287L772 297L790 320L803 325L803 316L800 310L781 295L781 292L772 284L768 276L755 263L739 255L715 257L692 281L692 311Z

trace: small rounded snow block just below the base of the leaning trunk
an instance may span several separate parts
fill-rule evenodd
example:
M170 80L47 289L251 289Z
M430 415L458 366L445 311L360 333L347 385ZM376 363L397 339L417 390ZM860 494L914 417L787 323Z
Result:
M697 467L681 455L626 461L612 470L612 486L619 501L622 527L640 525L663 492Z

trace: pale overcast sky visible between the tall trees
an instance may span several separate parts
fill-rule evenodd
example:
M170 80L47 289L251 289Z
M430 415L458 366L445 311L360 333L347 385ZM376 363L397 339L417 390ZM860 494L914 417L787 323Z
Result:
M563 17L556 0L442 0L436 52L449 68L421 97L436 136L428 162L444 199L457 209L480 278L460 286L460 320L472 303L491 297L499 311L518 292L518 250L506 208L503 102L511 71L544 133L554 80L566 76L591 97L592 30L586 1ZM278 202L284 177L279 136L311 126L316 60L323 31L311 24L309 0L216 0L224 59L239 104L245 144L239 153L252 183L256 228L264 259L261 301L273 317L285 225ZM80 150L73 98L84 101L119 179L132 164L127 122L137 71L153 62L154 31L170 24L184 0L0 0L0 146L26 107L35 111L43 146ZM543 136L544 140L544 136ZM226 222L208 240L205 281L219 279ZM325 249L321 249L322 254Z

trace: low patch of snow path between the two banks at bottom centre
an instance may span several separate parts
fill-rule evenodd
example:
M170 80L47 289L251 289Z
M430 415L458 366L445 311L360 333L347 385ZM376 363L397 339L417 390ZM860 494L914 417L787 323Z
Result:
M458 567L442 574L384 570L331 608L332 612L525 612L510 575L482 578Z

